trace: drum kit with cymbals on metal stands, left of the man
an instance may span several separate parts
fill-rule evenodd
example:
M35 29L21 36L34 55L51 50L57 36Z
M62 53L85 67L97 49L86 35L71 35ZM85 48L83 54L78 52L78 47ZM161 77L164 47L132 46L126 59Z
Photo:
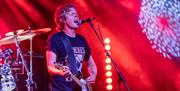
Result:
M22 66L27 73L26 87L28 91L33 91L33 86L35 82L32 79L32 40L33 37L47 33L51 29L50 28L41 28L41 29L28 29L28 30L17 30L13 32L8 32L5 34L5 38L0 39L0 45L12 44L14 43L17 48L17 55L20 55L22 60ZM30 40L30 67L27 66L24 55L22 53L20 42L24 40ZM16 82L14 80L13 72L8 63L8 58L13 53L13 51L8 48L4 51L0 51L0 59L4 59L4 63L0 66L0 91L12 91L16 87Z

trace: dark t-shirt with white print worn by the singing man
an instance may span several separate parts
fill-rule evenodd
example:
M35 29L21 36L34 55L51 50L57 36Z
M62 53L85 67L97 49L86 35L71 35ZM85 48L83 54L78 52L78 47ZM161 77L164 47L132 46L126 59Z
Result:
M87 41L82 35L76 34L76 37L70 37L66 35L64 32L56 32L50 35L47 40L46 50L50 50L54 52L57 56L56 62L63 63L65 57L67 56L66 50L63 42L61 41L62 36L67 36L70 40L72 49L74 51L74 56L76 59L77 70L81 72L82 69L82 61L88 60L91 54L90 48L88 46ZM52 87L55 88L67 88L69 85L64 77L61 76L51 76ZM66 84L66 86L65 86Z

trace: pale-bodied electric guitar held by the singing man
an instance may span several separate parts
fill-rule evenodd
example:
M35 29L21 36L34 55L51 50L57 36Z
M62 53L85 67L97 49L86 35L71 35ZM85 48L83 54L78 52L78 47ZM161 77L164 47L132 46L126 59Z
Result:
M57 68L58 70L64 70L64 67L62 64L54 63L54 65L55 65L55 68ZM72 80L74 80L81 87L81 91L93 91L92 87L89 84L87 84L86 80L84 80L84 79L79 80L72 73L70 74L70 77Z

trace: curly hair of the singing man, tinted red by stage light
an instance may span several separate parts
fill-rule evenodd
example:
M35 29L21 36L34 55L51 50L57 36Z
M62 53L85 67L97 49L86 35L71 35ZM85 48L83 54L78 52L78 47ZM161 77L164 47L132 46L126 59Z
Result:
M60 30L64 27L63 20L66 19L65 14L70 11L70 8L75 8L73 4L65 4L59 6L55 11L54 22L56 23L56 30Z

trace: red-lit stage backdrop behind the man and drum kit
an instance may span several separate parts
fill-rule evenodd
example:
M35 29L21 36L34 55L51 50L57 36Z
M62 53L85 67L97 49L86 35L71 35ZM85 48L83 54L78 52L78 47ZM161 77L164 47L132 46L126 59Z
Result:
M32 29L49 27L53 31L56 27L56 8L64 3L74 3L81 19L95 16L95 27L100 28L103 37L111 39L111 55L132 91L180 91L180 57L170 59L152 48L153 44L146 36L148 34L143 33L144 27L138 22L142 1L144 0L0 0L0 35L4 38L7 32L26 30L29 26ZM177 16L180 16L180 12L177 12ZM179 23L179 20L176 22ZM147 26L151 26L151 23ZM98 67L94 91L106 91L104 48L88 24L82 25L78 32L87 38ZM33 52L42 56L39 59L33 58L33 78L37 82L37 91L48 91L48 74L43 57L45 42L50 33L33 38ZM177 33L179 53L180 34ZM28 53L29 40L21 41L21 44L23 52ZM15 44L1 45L1 49L7 47L12 48L16 55ZM121 91L127 91L123 83L118 84L117 73L114 67L112 69L112 91L119 91L119 86ZM87 73L87 70L84 72ZM26 77L22 81L25 80Z

